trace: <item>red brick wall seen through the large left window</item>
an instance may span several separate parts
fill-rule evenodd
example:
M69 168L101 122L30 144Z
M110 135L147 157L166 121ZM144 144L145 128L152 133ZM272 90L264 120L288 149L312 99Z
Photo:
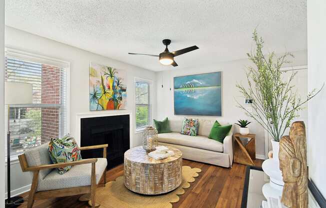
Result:
M42 64L41 103L60 104L60 69ZM41 139L48 141L59 136L59 108L43 107L41 110Z

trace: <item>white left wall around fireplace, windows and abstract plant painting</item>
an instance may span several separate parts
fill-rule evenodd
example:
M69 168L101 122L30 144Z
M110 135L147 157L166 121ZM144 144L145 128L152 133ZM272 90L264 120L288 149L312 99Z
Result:
M137 66L113 60L8 26L5 27L5 46L70 62L70 133L72 135L74 134L74 121L76 113L89 111L89 61L110 65L126 71L126 108L128 110L133 111L134 106L134 77L155 80L155 73L153 71L142 69ZM107 48L112 49L109 48L109 45ZM3 78L1 80L3 80ZM139 136L140 134L134 134L134 145L141 143ZM1 161L3 161L3 159ZM11 168L12 190L30 184L31 180L29 174L22 173L18 163L12 164ZM24 187L23 189L26 189L27 187ZM18 189L14 193L20 191L22 190Z

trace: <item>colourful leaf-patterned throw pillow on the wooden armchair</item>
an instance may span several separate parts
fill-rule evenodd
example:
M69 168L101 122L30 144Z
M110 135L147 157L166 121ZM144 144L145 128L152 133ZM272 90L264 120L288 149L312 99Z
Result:
M48 153L53 163L71 162L81 159L80 149L73 137L65 135L62 138L51 138L48 143ZM65 173L71 166L58 167L60 174Z

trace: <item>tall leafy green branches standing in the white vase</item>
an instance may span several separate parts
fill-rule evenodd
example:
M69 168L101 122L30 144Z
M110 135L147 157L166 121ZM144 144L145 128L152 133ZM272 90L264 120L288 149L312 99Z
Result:
M252 99L252 111L248 111L240 104L246 115L258 122L272 137L273 158L278 160L278 141L291 121L298 116L297 112L303 109L303 104L314 97L322 87L315 89L301 99L292 85L296 72L292 72L289 79L284 80L281 67L290 63L288 57L294 57L285 52L276 56L274 52L264 55L262 51L263 40L258 36L256 29L252 38L256 49L247 53L248 59L254 67L249 66L246 70L248 87L236 84L245 99Z

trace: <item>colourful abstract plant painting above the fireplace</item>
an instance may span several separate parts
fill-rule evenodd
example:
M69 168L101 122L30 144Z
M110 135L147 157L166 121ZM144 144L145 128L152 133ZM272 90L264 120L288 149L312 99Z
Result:
M90 62L89 109L124 109L126 105L125 72Z

